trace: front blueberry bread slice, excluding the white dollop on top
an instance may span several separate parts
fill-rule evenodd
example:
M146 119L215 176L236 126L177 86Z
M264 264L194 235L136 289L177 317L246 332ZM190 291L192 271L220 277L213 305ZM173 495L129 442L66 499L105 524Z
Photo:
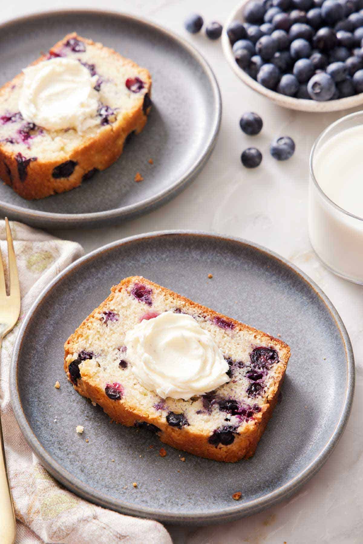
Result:
M132 372L124 341L144 319L186 313L210 333L230 378L189 400L161 398ZM65 343L65 372L73 387L115 422L155 431L162 442L217 461L255 453L278 399L290 357L284 342L165 289L128 277Z

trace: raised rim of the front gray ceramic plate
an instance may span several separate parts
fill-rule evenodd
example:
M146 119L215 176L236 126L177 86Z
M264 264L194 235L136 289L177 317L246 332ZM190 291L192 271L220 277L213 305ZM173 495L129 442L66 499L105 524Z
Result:
M119 248L121 246L125 246L134 242L139 242L140 240L144 240L147 238L162 238L164 236L177 237L180 235L197 236L204 238L208 237L212 239L218 239L220 241L226 240L227 242L234 242L243 246L248 246L250 249L257 250L259 252L262 252L263 254L267 254L268 257L273 258L285 267L290 268L296 275L300 276L300 278L304 280L304 282L307 283L307 285L311 287L315 291L316 295L324 302L331 316L335 320L336 327L340 332L342 343L346 351L347 387L342 410L339 417L337 418L334 431L332 432L329 440L325 443L324 447L321 449L318 455L316 455L315 459L313 459L312 462L307 465L302 471L300 471L295 477L291 478L285 485L276 488L275 490L263 495L262 497L250 500L248 503L244 503L241 505L237 504L236 506L229 506L228 508L220 509L218 512L206 514L175 514L175 512L170 512L166 510L160 511L157 508L135 506L133 504L127 503L124 500L114 499L108 496L106 493L100 490L96 490L94 489L94 487L88 484L84 484L82 480L72 475L69 471L64 469L60 465L60 463L58 463L58 461L53 459L52 456L39 442L22 410L21 399L17 388L17 363L27 327L32 320L36 308L38 308L39 304L42 302L48 292L56 287L56 285L60 281L62 281L65 276L69 275L76 268L82 267L85 263L93 260L100 254L112 251L115 248ZM265 248L260 244L250 242L249 240L245 240L243 238L234 236L223 236L218 233L206 231L165 230L136 234L134 236L122 238L120 240L116 240L115 242L103 245L101 248L97 248L96 250L91 251L89 254L80 257L75 262L68 265L63 271L61 271L53 279L50 285L43 289L42 292L38 295L21 324L14 344L13 354L11 356L9 382L11 405L13 406L13 411L17 423L20 426L24 438L26 439L29 446L32 448L36 457L40 460L41 464L47 469L48 472L52 474L54 478L56 478L56 480L63 484L66 489L76 493L78 496L85 498L92 503L99 504L104 508L109 508L121 512L122 514L133 515L143 518L153 518L164 523L203 525L215 522L237 520L241 517L256 514L257 512L273 506L274 504L290 497L293 493L297 492L298 489L302 485L304 485L323 466L324 462L327 461L330 454L333 452L336 444L339 442L350 415L354 395L355 366L352 344L350 342L346 327L343 324L342 319L337 312L335 306L332 304L328 296L325 295L323 290L318 287L318 285L296 265L294 265L284 257L280 256L276 252L269 250L268 248Z

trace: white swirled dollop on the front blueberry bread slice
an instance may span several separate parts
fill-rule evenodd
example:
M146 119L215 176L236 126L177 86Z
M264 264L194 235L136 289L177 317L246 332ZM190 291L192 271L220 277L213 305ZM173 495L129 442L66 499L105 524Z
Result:
M138 381L162 398L188 400L229 381L222 352L192 316L144 319L126 333L125 345Z

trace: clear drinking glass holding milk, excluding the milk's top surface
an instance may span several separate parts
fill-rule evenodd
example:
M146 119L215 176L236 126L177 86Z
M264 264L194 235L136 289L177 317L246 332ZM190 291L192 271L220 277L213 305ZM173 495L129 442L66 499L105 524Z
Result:
M312 146L309 237L313 250L329 270L346 280L363 284L363 218L347 212L330 200L314 174L314 163L322 146L336 134L358 125L363 125L363 112L346 115L326 128Z

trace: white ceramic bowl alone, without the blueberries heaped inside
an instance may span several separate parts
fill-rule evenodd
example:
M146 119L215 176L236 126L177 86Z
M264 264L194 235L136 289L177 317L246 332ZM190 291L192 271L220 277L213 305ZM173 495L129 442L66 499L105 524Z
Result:
M242 79L242 81L251 89L254 89L263 96L266 96L279 106L288 109L296 109L300 112L337 112L343 109L355 108L363 104L363 93L355 96L349 96L348 98L340 98L339 100L328 100L326 102L317 102L315 100L304 100L304 98L293 98L291 96L280 95L278 92L266 89L266 87L260 85L260 83L257 83L257 81L244 72L244 70L238 66L233 56L232 47L227 36L227 28L230 26L232 21L244 21L243 9L248 2L249 0L243 0L235 9L233 9L231 15L224 25L222 34L224 55L233 72L235 72L239 79Z

